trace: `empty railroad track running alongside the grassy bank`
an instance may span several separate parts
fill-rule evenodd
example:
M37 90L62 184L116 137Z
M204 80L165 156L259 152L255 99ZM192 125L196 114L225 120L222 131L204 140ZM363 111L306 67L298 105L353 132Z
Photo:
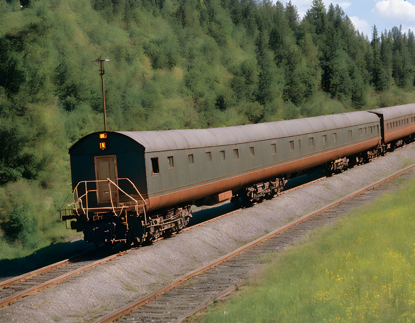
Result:
M333 221L355 206L373 201L394 185L389 181L413 168L415 164L288 223L98 318L95 323L182 322L238 289L243 284L244 277L261 266L261 255L278 252L286 245L300 240L309 230Z

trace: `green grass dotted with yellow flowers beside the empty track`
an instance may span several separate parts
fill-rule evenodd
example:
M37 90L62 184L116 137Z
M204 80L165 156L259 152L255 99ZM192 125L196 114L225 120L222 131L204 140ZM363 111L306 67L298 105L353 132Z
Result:
M311 232L203 322L397 322L415 319L415 179L335 226ZM269 261L269 259L264 259Z

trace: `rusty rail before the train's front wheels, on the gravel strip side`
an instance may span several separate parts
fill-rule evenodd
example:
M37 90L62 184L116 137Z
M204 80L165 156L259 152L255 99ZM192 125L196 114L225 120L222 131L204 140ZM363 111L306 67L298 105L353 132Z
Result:
M62 274L58 277L55 277L51 280L45 281L42 284L39 284L37 286L33 286L29 289L26 289L24 291L21 291L20 293L16 293L13 295L10 295L9 297L5 297L3 299L0 299L0 308L8 306L12 303L14 303L17 299L20 299L22 297L26 297L29 295L36 294L37 292L41 291L42 289L46 289L47 287L55 286L56 284L61 283L65 279L68 279L74 275L80 274L81 272L84 272L85 270L89 270L95 266L98 266L100 264L103 264L104 262L110 261L115 259L118 256L121 256L122 254L125 254L127 251L119 252L117 254L113 254L112 256L105 257L103 259L97 260L95 262L92 262L86 266L80 267L78 269L74 269L70 272L67 272L66 274ZM16 277L17 278L17 277Z

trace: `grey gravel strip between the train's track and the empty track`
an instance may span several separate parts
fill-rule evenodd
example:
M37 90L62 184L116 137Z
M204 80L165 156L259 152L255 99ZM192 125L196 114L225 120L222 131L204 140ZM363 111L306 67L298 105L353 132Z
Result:
M0 311L0 322L93 321L210 262L388 176L415 160L415 144L368 164L299 188L251 208L182 232L154 245L131 250Z

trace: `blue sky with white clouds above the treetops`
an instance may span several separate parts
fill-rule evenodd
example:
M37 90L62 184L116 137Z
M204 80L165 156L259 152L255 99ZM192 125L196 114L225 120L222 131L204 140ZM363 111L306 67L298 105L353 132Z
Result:
M288 0L280 0L285 5ZM275 3L276 0L273 0ZM310 8L312 0L291 0L298 8L302 19ZM330 1L324 0L326 10L330 2L335 6L339 4L352 20L354 27L368 35L371 39L373 25L376 24L379 37L381 31L390 30L393 26L402 24L402 33L408 34L408 29L415 32L415 0L350 0Z

